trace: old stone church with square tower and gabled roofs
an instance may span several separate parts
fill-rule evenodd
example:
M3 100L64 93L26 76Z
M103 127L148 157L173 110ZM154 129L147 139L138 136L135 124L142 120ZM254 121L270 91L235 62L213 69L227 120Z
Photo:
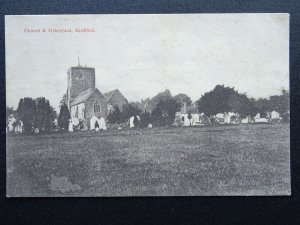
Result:
M114 106L122 109L128 103L118 89L102 94L95 87L95 68L78 63L78 66L69 68L67 79L67 105L71 118L84 120L88 125L93 116L107 121L107 115Z

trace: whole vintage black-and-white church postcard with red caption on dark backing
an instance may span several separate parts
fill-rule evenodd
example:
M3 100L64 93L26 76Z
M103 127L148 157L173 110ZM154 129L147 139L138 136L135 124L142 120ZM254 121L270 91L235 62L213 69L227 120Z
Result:
M7 197L291 195L289 18L5 16Z

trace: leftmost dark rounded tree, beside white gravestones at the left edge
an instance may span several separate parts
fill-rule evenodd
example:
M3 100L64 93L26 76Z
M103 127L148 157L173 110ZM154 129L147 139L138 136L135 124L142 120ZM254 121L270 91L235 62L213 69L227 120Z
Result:
M34 125L35 108L36 104L32 98L20 99L17 112L23 122L24 132L27 134L31 133Z

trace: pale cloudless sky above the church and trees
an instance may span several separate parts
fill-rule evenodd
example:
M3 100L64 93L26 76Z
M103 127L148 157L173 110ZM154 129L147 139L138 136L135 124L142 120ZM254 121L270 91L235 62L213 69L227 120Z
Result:
M20 98L46 97L58 109L78 51L102 93L118 88L129 101L165 89L198 100L218 84L254 98L289 89L288 14L6 16L5 43L14 108Z

